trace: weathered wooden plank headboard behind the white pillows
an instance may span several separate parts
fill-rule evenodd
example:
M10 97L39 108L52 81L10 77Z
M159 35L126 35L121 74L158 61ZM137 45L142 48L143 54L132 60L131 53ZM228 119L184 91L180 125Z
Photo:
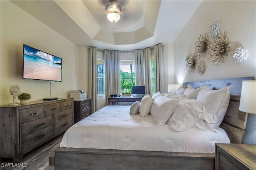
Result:
M230 143L243 143L244 133L248 113L239 110L240 95L243 80L254 80L254 77L226 78L220 80L206 80L196 82L185 82L182 87L187 88L188 84L193 88L198 88L202 84L212 90L217 90L226 86L230 88L230 103L226 115L220 125L226 131Z

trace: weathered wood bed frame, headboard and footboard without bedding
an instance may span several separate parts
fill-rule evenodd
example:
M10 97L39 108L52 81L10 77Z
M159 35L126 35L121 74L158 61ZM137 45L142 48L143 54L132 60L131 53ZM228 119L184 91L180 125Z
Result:
M216 90L230 88L230 104L220 127L226 131L231 143L242 143L246 128L247 114L239 111L243 80L254 77L228 78L183 83L198 88L202 84ZM60 148L60 143L49 151L49 170L92 169L92 170L214 170L214 154L155 152L139 150Z

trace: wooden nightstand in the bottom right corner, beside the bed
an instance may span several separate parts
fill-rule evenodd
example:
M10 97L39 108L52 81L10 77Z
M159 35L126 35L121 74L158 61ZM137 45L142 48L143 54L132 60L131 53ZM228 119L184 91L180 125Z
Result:
M215 170L256 170L256 145L215 145Z

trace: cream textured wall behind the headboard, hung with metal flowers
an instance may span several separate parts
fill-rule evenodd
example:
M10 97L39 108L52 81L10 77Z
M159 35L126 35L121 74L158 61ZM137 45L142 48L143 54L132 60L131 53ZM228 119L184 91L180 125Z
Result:
M191 17L187 25L174 42L175 81L183 82L196 80L211 80L221 78L256 77L256 1L203 1L198 10ZM220 66L213 66L208 61L207 54L202 60L205 63L205 73L188 74L185 57L194 53L195 42L200 34L208 33L212 21L217 19L220 33L226 31L232 42L232 49L228 58ZM209 37L210 38L210 37ZM212 43L210 38L210 42ZM247 56L245 61L235 64L232 56L237 47L243 47ZM256 144L256 115L248 116L244 143Z

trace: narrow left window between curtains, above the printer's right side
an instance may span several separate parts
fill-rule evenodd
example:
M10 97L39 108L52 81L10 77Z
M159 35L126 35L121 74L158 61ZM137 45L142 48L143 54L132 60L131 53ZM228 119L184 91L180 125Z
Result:
M98 94L105 94L105 68L104 64L97 64Z

